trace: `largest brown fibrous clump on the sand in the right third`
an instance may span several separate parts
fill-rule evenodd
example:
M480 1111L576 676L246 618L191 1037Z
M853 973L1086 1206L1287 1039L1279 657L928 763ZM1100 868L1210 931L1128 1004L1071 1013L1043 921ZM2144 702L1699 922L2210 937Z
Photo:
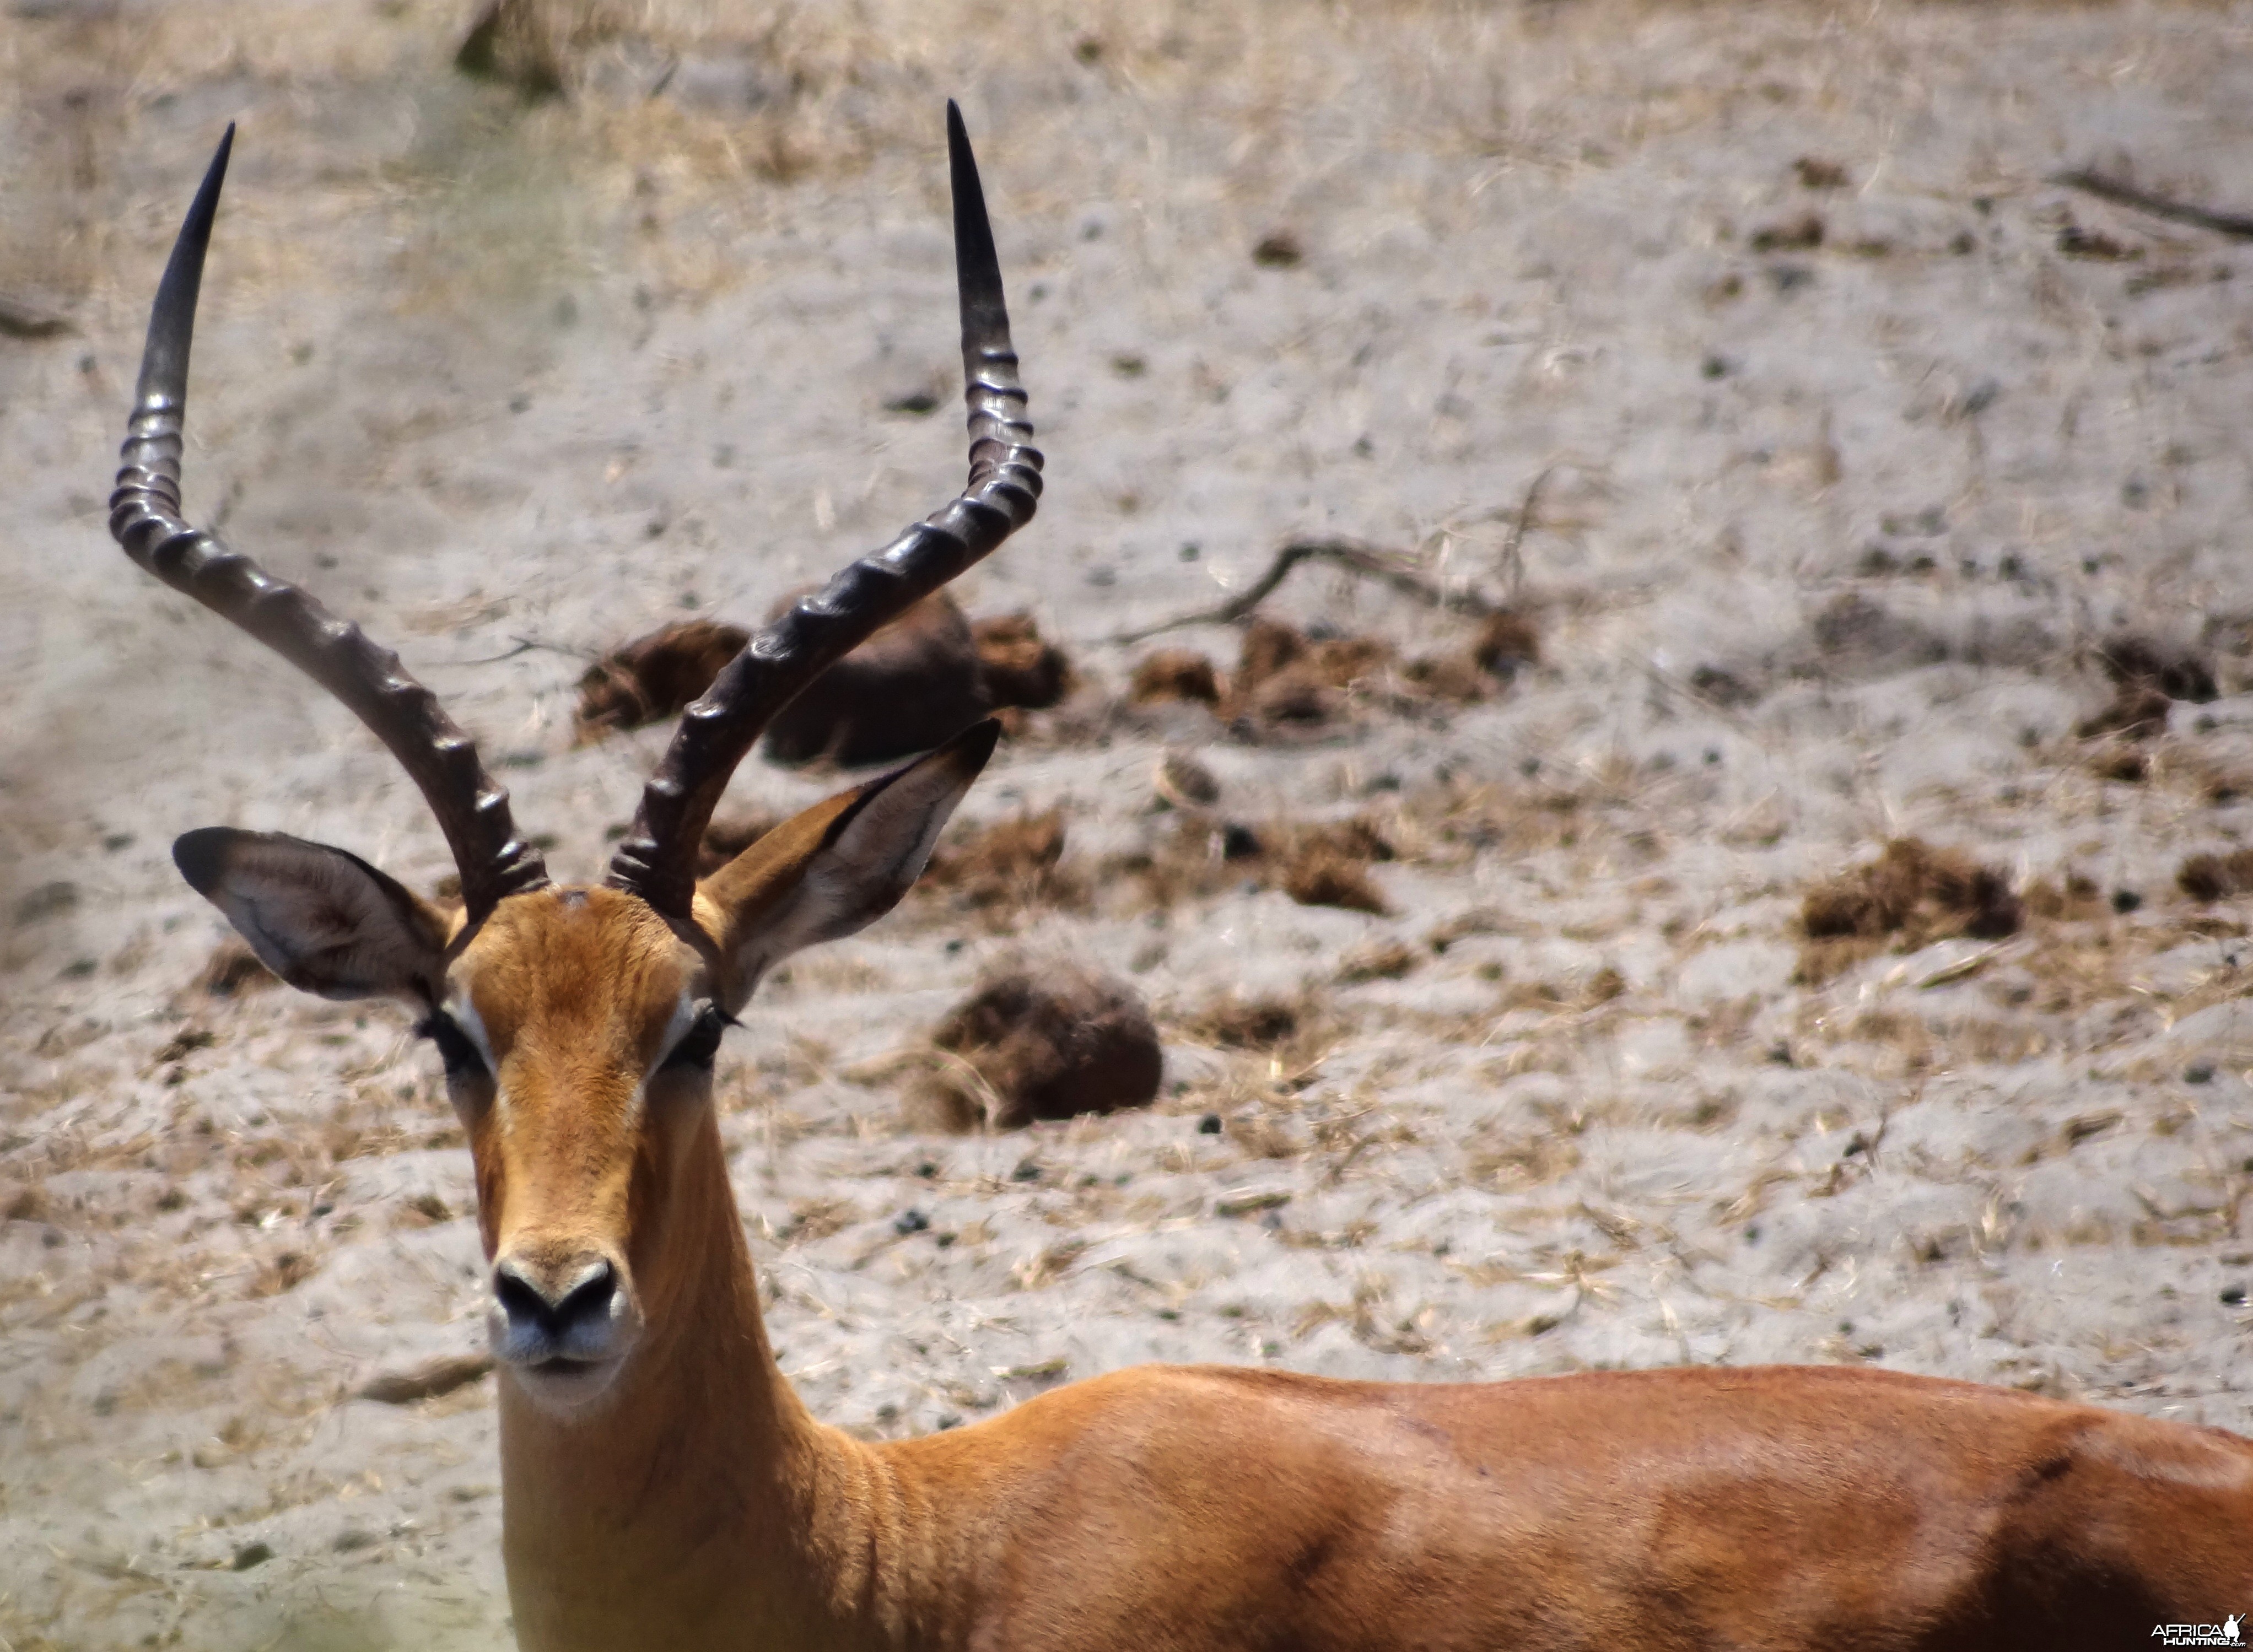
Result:
M1798 978L1816 985L1888 940L1915 951L1949 935L1998 940L2023 917L2003 872L1960 850L1893 838L1870 865L1818 883L1800 902Z

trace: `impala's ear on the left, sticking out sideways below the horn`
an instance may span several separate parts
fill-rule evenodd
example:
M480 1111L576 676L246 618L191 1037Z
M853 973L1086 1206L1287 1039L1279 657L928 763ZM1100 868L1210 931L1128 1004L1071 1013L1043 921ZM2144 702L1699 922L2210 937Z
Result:
M288 985L322 998L437 1003L451 920L358 854L205 827L171 845L171 863Z

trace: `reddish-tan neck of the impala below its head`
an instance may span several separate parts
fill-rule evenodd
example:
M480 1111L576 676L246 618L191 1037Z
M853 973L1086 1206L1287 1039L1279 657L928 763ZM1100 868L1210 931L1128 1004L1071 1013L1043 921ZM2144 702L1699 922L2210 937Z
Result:
M662 1307L617 1388L559 1420L502 1368L502 1551L527 1652L852 1645L854 1616L890 1593L870 1587L881 1469L775 1364L716 1122L685 1172L644 1280Z

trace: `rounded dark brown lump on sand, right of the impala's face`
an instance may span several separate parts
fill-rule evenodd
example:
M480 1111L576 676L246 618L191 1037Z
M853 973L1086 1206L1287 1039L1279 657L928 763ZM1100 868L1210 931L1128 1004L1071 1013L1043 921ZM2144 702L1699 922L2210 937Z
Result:
M942 1053L910 1086L908 1113L942 1129L1021 1129L1149 1107L1165 1057L1140 994L1066 960L1014 960L930 1030Z

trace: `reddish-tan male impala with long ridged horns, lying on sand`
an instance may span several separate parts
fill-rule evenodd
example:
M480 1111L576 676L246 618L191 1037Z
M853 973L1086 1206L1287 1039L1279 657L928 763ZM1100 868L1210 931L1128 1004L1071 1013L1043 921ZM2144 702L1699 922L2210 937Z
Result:
M232 131L230 131L232 140ZM176 847L288 983L424 1016L478 1170L525 1647L2061 1647L2253 1607L2253 1442L1886 1370L1397 1386L1154 1366L863 1445L775 1366L712 1053L780 958L885 913L982 723L701 883L737 762L825 665L1034 509L1000 268L949 106L971 480L768 624L680 721L599 888L554 886L428 690L180 516L223 142L158 288L110 527L340 696L462 870Z

